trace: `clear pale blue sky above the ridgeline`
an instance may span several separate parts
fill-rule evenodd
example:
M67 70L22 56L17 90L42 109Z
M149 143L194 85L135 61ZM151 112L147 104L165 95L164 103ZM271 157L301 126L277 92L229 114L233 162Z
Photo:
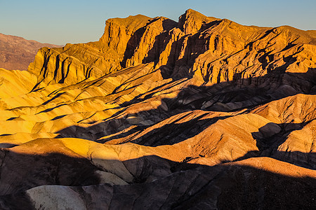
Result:
M187 8L242 25L316 29L315 0L0 0L0 33L42 43L85 43L102 36L108 18L143 14L178 21Z

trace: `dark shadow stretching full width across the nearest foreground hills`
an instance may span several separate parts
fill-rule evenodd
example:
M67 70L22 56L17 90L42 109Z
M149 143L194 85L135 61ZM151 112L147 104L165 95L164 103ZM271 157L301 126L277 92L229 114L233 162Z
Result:
M22 155L11 151L6 156L6 165L1 167L1 174L8 169L12 173L0 177L0 187L10 186L11 190L1 190L0 207L34 209L34 203L24 191L54 185L51 188L57 192L62 190L58 186L72 186L70 192L78 193L86 207L95 208L145 209L154 203L152 209L315 209L315 177L302 176L306 171L299 168L288 169L287 165L273 163L280 165L270 166L272 169L278 167L279 172L290 175L249 163L209 167L148 155L124 161L126 168L138 177L133 182L136 184L113 186L100 184L94 175L96 167L84 158L60 153ZM8 176L12 176L11 179L6 179ZM43 208L54 201L55 190L43 201ZM67 191L62 193L67 195Z

